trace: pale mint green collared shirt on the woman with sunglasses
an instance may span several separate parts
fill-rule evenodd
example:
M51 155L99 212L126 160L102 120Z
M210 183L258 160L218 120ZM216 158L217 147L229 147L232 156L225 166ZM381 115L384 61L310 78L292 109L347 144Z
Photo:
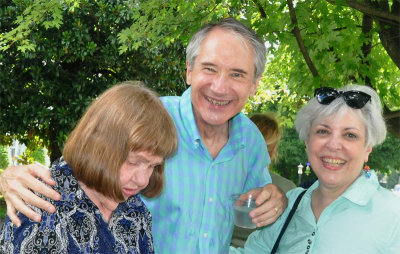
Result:
M372 170L371 170L372 171ZM400 198L381 187L376 174L361 175L315 222L311 194L315 182L303 196L283 235L277 253L312 254L394 254L400 253ZM287 193L289 206L272 225L252 233L244 249L231 247L229 253L270 253L303 188Z

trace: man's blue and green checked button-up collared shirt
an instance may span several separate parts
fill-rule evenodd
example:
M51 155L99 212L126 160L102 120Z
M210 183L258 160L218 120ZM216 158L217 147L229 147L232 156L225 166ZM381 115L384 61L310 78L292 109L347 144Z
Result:
M230 120L228 143L213 159L203 145L190 100L162 97L178 132L178 151L165 165L162 194L145 203L153 216L156 253L228 253L234 193L271 183L264 138L242 113Z

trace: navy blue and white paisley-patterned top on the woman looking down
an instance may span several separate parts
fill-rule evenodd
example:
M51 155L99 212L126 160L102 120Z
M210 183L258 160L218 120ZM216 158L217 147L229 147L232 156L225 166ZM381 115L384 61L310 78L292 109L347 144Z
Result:
M6 217L0 253L154 253L151 215L138 195L120 203L107 224L62 158L50 171L61 194L51 201L56 212L33 208L39 223L19 214L19 228Z

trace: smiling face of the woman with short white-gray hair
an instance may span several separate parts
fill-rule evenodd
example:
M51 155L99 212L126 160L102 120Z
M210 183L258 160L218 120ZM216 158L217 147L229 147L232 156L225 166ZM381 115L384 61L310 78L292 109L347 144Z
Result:
M313 123L306 141L308 160L322 187L344 192L360 175L372 151L366 128L353 109Z

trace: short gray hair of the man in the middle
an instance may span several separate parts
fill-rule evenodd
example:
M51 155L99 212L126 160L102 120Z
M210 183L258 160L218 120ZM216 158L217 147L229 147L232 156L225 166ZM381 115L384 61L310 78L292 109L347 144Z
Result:
M254 66L256 80L264 72L266 62L266 48L264 42L252 29L248 28L234 18L222 19L216 23L211 23L203 26L191 38L186 48L186 61L189 62L190 68L193 68L196 57L199 55L201 43L207 35L215 28L220 28L226 31L231 31L234 34L246 39L253 46L254 49Z

